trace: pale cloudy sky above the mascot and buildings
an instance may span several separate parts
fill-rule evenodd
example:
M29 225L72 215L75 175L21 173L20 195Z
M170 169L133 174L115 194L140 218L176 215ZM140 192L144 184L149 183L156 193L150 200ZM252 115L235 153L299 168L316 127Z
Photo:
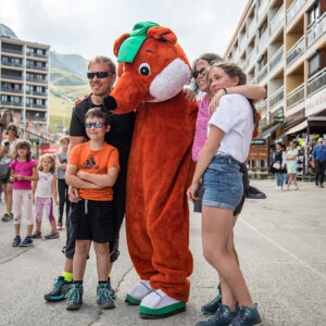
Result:
M2 3L1 3L2 2ZM113 57L113 42L140 21L170 27L190 62L223 55L248 0L0 0L0 23L58 53ZM5 10L3 10L5 8Z

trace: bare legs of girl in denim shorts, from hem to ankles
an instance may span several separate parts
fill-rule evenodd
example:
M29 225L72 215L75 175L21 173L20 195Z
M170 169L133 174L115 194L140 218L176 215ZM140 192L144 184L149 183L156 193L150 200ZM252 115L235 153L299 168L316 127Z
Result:
M229 243L233 238L233 213L229 210L203 205L202 242L204 256L225 280L231 294L243 306L252 306L252 300L242 273ZM226 291L228 288L225 288ZM228 300L231 294L227 296ZM222 290L222 300L224 292ZM230 309L236 302L230 302Z

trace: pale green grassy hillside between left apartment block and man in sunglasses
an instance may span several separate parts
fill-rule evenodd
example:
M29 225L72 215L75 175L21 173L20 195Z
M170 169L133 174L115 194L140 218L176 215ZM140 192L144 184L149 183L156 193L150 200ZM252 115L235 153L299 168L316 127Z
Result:
M50 126L52 133L68 128L72 109L76 100L89 93L86 78L59 68L51 67L50 85Z

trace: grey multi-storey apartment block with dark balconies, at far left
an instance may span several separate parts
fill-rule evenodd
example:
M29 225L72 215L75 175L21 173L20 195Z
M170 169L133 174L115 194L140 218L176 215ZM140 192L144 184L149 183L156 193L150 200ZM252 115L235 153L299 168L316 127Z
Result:
M49 117L50 46L0 36L0 113L34 130Z

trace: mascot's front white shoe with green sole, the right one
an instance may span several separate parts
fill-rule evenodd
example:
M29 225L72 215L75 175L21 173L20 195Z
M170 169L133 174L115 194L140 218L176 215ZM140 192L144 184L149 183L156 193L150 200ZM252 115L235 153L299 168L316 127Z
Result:
M146 296L139 306L140 317L143 319L166 318L185 310L186 302L175 300L160 289Z

